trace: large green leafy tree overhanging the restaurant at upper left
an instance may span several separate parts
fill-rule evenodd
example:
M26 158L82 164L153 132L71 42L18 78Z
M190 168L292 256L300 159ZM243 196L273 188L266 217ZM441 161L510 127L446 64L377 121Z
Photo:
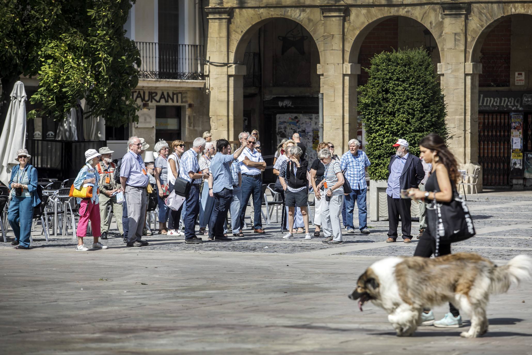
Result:
M9 85L21 75L37 76L39 89L30 101L43 105L39 115L62 120L77 100L85 98L88 113L102 115L108 125L118 127L138 120L139 108L131 98L131 90L138 84L135 64L140 65L140 58L135 42L124 37L123 30L131 1L4 3L10 6L6 12L18 11L15 16L22 20L7 19L10 26L0 27L0 38L10 41L4 47L12 48L2 48L2 53L5 49L8 54L0 59L5 68L1 72L3 93L9 96ZM4 29L6 33L2 34ZM21 38L30 41L22 42ZM36 114L34 110L28 115L31 118Z

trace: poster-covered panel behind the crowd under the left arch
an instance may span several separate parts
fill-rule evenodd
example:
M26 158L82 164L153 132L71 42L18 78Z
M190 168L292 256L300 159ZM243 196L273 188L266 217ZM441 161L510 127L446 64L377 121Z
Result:
M282 113L277 114L277 145L283 138L292 138L294 133L301 137L301 143L306 147L307 160L312 163L317 158L316 149L319 143L319 129L317 114L310 113Z

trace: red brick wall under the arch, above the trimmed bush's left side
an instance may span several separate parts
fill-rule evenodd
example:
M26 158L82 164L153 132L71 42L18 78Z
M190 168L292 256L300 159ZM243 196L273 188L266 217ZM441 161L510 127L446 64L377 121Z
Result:
M364 42L360 46L359 63L362 68L370 67L370 59L373 55L381 52L391 52L392 48L397 50L398 18L385 20L369 32ZM368 81L368 73L362 69L359 75L359 85L364 85Z

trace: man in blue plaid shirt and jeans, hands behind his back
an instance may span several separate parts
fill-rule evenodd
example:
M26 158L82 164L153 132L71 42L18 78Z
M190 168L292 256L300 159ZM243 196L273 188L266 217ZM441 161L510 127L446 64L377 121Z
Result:
M356 201L356 205L359 208L360 233L369 234L367 223L368 209L366 205L368 185L366 185L365 182L365 170L371 165L371 163L368 156L363 151L359 150L359 141L351 139L348 144L349 151L342 155L342 159L340 159L340 168L342 168L344 176L351 185L353 191L350 194L345 195L344 224L347 227L347 233L355 233L355 227L353 225L353 210Z

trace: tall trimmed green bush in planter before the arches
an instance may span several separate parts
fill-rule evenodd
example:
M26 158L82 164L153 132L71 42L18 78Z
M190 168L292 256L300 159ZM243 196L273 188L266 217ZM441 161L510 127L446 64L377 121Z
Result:
M364 68L365 69L365 68ZM383 52L371 59L366 85L360 86L358 110L363 115L365 152L372 180L388 178L388 163L398 138L419 156L418 142L429 133L449 138L444 97L425 49Z

